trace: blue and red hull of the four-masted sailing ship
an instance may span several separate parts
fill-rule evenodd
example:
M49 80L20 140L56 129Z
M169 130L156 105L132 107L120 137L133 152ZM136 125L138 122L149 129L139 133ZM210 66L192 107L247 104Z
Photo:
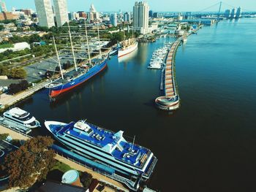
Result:
M89 80L91 77L94 77L94 75L98 74L99 72L102 72L102 70L104 70L107 65L108 65L108 58L106 58L102 62L102 64L98 64L92 67L91 69L89 69L89 72L86 72L80 77L75 78L75 80L67 82L64 85L59 85L55 88L50 88L50 97L59 96L61 93L67 92L72 88L75 88L78 85L82 84L83 82L86 82L86 80Z

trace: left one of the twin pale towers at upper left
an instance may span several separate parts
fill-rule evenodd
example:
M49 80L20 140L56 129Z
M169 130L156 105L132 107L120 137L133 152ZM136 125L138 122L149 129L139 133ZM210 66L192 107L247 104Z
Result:
M53 9L50 0L34 0L37 9L39 26L52 27L55 26Z

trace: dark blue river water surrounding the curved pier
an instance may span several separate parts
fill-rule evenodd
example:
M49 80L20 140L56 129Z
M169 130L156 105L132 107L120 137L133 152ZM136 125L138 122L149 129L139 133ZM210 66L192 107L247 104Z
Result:
M256 19L203 27L178 47L181 108L154 107L161 72L147 69L167 37L140 43L106 69L51 103L41 91L19 104L43 123L81 118L148 147L159 159L148 185L159 191L255 191ZM42 126L39 134L48 134ZM37 133L37 134L38 134Z

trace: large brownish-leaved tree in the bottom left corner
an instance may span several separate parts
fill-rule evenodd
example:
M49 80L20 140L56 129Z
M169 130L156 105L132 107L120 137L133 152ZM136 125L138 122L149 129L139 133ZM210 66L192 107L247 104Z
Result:
M28 188L37 180L46 177L56 164L55 153L53 150L47 150L50 145L53 145L53 139L50 137L34 137L7 155L1 170L10 175L10 188Z

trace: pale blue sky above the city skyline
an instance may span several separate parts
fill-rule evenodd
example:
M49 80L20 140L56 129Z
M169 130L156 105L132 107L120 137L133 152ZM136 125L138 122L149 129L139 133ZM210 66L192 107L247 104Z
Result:
M12 7L16 9L34 9L34 0L4 0L7 5L7 9L11 10ZM155 12L198 12L207 7L211 7L217 4L218 0L148 0L150 9ZM89 11L91 4L99 12L118 12L132 11L132 7L135 4L135 0L67 0L68 11ZM233 7L241 7L242 9L256 11L255 0L225 0L223 1L222 11L225 9L232 9ZM206 9L206 11L218 11L218 5Z

